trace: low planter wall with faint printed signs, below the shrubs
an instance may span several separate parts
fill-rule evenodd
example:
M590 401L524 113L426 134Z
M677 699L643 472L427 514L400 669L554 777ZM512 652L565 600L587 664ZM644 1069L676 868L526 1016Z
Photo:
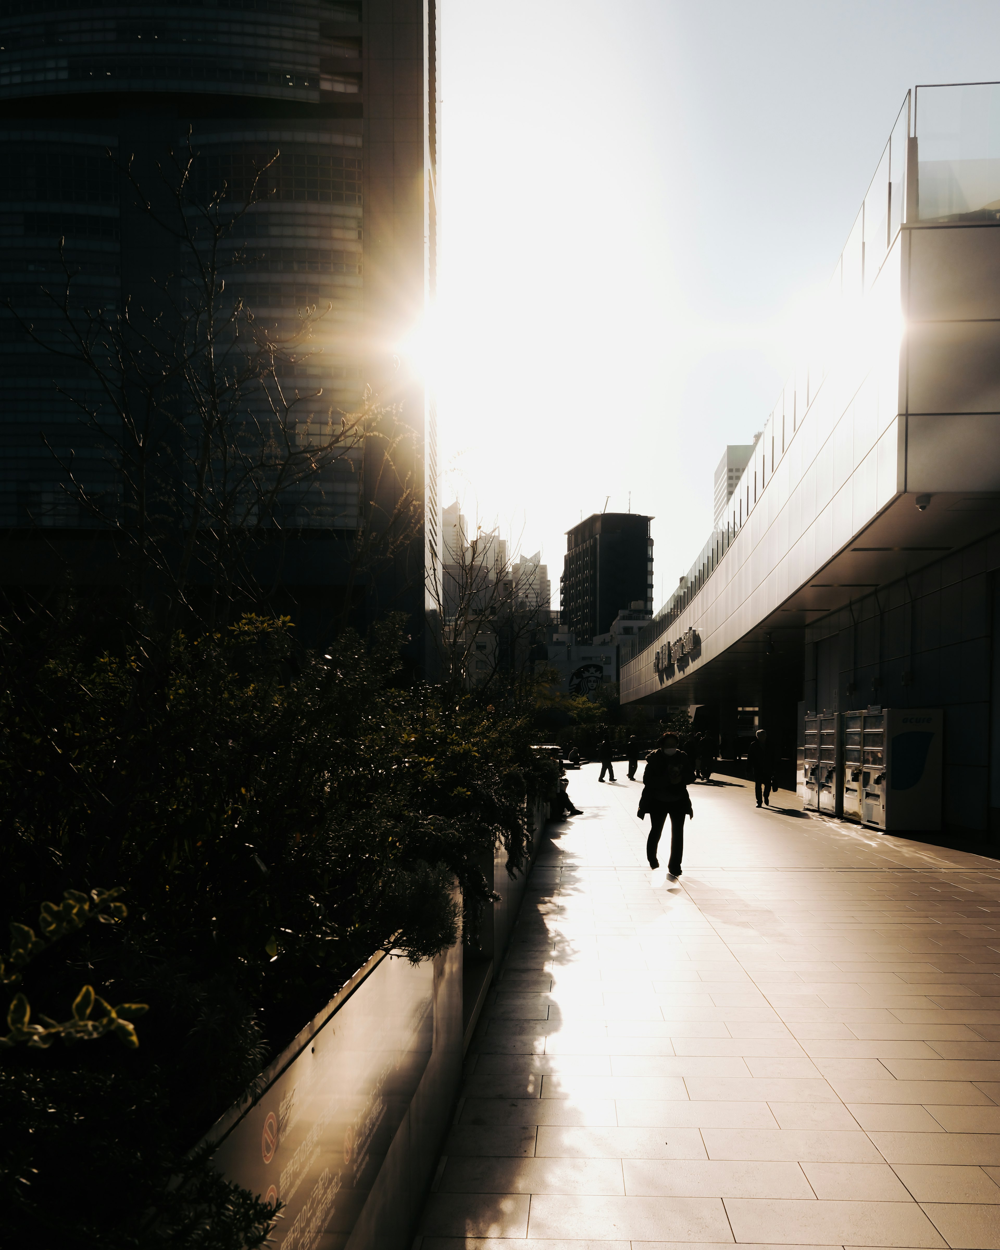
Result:
M535 849L546 815L536 804ZM526 885L504 865L498 855L482 998ZM418 965L380 952L262 1074L256 1100L215 1124L219 1170L285 1204L279 1250L409 1250L458 1096L464 1025L461 942Z

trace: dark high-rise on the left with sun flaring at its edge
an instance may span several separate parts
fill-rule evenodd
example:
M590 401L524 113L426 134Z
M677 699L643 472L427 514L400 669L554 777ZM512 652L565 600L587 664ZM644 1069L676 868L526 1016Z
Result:
M285 545L281 582L319 628L328 608L342 608L348 585L361 581L352 591L360 615L388 608L410 615L416 665L425 570L439 541L435 414L400 345L435 296L436 8L435 0L0 8L2 294L42 336L54 331L58 314L40 286L55 290L61 280L61 238L81 309L135 310L151 280L174 271L178 252L138 206L129 166L155 205L166 194L171 150L182 161L190 144L192 194L219 192L228 209L251 198L248 188L266 165L259 202L238 229L249 262L226 274L230 289L278 332L298 310L330 305L318 326L321 355L282 378L290 390L321 390L310 421L356 410L370 386L408 431L394 481L359 449L331 470L324 506L285 499L286 536L311 541ZM0 378L0 578L51 582L66 564L79 572L91 550L80 539L92 518L64 489L66 465L91 492L118 489L79 405L60 394L90 400L92 378L10 320ZM418 536L395 551L391 568L351 579L342 556L350 544L339 540L378 530L404 490L422 510Z

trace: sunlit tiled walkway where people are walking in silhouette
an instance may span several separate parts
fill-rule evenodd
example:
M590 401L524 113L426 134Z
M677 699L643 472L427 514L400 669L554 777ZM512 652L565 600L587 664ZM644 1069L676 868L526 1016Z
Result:
M640 786L596 776L529 882L421 1250L1000 1248L1000 862L721 778L674 882Z

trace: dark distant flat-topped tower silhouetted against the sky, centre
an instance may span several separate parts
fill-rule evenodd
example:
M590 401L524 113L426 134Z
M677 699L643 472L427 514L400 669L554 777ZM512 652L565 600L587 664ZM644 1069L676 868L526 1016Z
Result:
M651 516L595 512L566 531L560 622L578 639L606 634L622 608L652 611Z

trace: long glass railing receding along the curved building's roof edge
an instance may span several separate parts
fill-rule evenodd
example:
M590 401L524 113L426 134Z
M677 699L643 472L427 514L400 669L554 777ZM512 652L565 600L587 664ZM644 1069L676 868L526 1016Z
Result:
M926 91L926 88L921 88ZM955 90L934 88L931 90ZM965 89L962 89L965 90ZM1000 89L998 89L1000 90ZM922 96L921 96L922 101ZM1000 96L998 96L1000 105ZM925 105L921 102L921 108ZM998 115L1000 118L1000 114ZM1000 130L996 131L1000 135ZM726 504L725 521L712 530L688 575L652 620L629 644L622 644L621 662L651 646L680 616L708 579L715 572L722 556L750 518L759 498L771 479L795 431L802 424L806 411L819 394L831 354L831 339L836 338L836 325L858 305L870 290L889 250L906 221L906 162L910 138L910 92L896 115L889 140L882 150L875 176L851 226L848 241L834 268L828 294L828 308L809 359L795 370L781 390L778 402L764 424L764 431L754 445L739 485ZM1000 146L998 146L1000 154ZM922 154L921 154L922 156ZM921 174L922 174L921 160ZM1000 191L998 192L1000 194ZM998 205L1000 210L1000 205Z

